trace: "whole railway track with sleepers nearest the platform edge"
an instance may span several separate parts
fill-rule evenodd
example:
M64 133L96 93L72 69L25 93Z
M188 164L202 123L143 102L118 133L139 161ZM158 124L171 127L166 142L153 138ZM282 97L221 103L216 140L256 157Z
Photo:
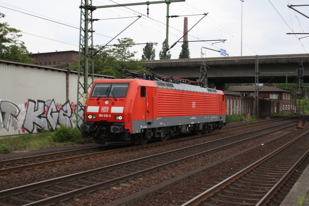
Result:
M264 206L309 155L309 131L184 203ZM307 164L306 163L306 164Z

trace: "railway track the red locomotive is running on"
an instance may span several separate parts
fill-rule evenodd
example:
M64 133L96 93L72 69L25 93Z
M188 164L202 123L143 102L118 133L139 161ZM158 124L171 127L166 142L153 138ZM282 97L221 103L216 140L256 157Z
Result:
M90 147L90 148L84 148L84 149L75 149L75 150L61 151L61 152L56 152L56 153L35 155L35 156L30 156L30 157L2 160L0 161L0 175L8 174L11 172L18 172L21 170L30 170L33 168L38 168L38 167L43 167L43 166L51 166L54 164L71 162L71 161L76 161L80 159L92 158L96 156L107 155L110 153L117 153L117 152L123 152L127 150L152 147L152 146L162 145L162 144L170 144L175 141L184 141L184 140L192 139L192 138L200 138L200 137L209 136L212 134L240 130L243 128L253 127L255 125L276 123L276 122L280 122L282 120L288 120L288 119L291 119L291 117L283 117L283 118L278 118L275 120L265 120L262 123L259 122L259 123L246 123L246 124L240 124L240 125L233 125L233 126L228 126L225 129L222 129L220 131L213 132L211 134L202 134L202 135L197 135L197 136L192 136L192 137L172 139L172 140L165 141L165 142L156 142L156 143L152 143L148 145L138 145L138 146L133 146L133 147L121 148L121 149L108 150L106 146L96 146L96 147Z

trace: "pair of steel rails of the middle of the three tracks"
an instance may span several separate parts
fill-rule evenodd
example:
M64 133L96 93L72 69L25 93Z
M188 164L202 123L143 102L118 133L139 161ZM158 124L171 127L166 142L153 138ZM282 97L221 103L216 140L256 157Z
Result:
M293 126L293 125L290 125L290 126ZM282 128L286 128L286 124L281 125L281 126L283 126L283 127L277 128L277 129L275 129L274 131L271 131L271 132L277 132L277 131L282 130ZM275 126L273 126L273 127L275 127ZM265 130L265 128L263 130ZM33 202L33 203L29 203L29 204L26 204L26 205L50 205L50 204L53 204L57 201L65 201L65 200L68 200L68 198L72 197L72 195L79 196L79 195L84 194L85 192L95 191L96 189L99 189L99 188L102 188L102 187L104 188L104 187L106 187L110 184L125 181L127 179L132 179L134 177L140 176L140 175L145 174L145 173L150 173L150 172L159 170L161 168L165 168L167 166L175 165L179 162L184 162L186 160L190 160L194 157L198 157L198 156L205 155L205 154L208 154L208 153L220 150L220 149L231 147L232 145L240 144L240 143L243 143L245 141L255 139L257 137L265 136L265 135L267 135L271 132L265 132L264 134L259 134L259 135L256 135L254 137L249 137L249 138L246 138L246 139L243 139L243 140L239 140L239 141L236 141L236 142L233 142L233 143L229 143L227 145L221 145L219 147L216 147L216 148L213 148L213 149L208 149L208 150L200 152L200 153L194 153L194 154L189 155L187 157L179 158L179 159L171 161L171 162L159 164L158 166L153 166L153 167L150 167L150 168L147 168L147 169L144 169L144 170L140 170L138 172L134 172L134 173L129 174L129 175L121 176L119 178L110 179L110 180L107 180L107 181L102 182L102 183L97 183L97 184L94 184L94 185L90 185L90 186L87 186L87 187L83 187L83 188L80 188L80 189L69 191L69 192L66 192L66 193L63 193L63 194L59 194L59 195L56 195L56 196L53 196L53 197L50 197L50 198L46 198L46 199L39 200L39 201L36 201L36 202ZM252 132L248 132L248 133L252 133ZM243 135L243 134L241 134L241 135ZM240 136L240 135L231 136L230 138L236 137L236 136ZM228 137L226 137L224 139L228 139ZM154 159L154 158L158 158L158 157L166 157L168 154L181 153L181 152L188 150L188 149L196 150L197 147L201 147L203 145L209 145L209 144L212 144L212 143L218 142L218 141L222 141L222 140L215 140L215 141L211 141L211 142L208 142L208 143L201 143L201 144L198 144L198 145L193 145L193 146L189 146L189 147L182 148L182 149L176 149L176 150L165 152L165 153L160 153L160 154L156 154L156 155L152 155L152 156L148 156L148 157L144 157L144 158L139 158L137 160L131 160L131 161L123 162L123 163L118 163L118 164L115 164L115 165L106 166L106 167L98 168L98 169L95 169L95 170L89 170L89 171L86 171L86 172L70 174L70 175L66 175L66 176L63 176L63 177L59 177L59 178L54 178L54 179L50 179L50 180L41 181L41 182L38 182L38 183L32 183L32 184L29 184L29 185L24 185L24 186L20 186L20 187L15 187L15 188L3 190L3 191L0 191L0 198L5 198L8 195L18 195L18 194L23 193L24 191L33 191L33 190L36 190L37 188L48 187L48 186L51 186L53 184L63 183L65 181L74 180L76 178L83 178L83 177L93 175L93 174L97 174L97 173L107 171L107 170L114 170L114 169L117 169L117 168L120 168L120 167L128 166L129 164L132 165L132 164L137 164L139 162L150 161L150 159Z

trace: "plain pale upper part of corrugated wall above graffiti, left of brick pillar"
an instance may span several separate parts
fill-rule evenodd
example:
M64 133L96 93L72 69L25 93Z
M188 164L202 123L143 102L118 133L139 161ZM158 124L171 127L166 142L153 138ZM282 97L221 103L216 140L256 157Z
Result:
M46 101L53 98L66 102L65 72L1 64L0 75L2 100L25 103L28 99Z

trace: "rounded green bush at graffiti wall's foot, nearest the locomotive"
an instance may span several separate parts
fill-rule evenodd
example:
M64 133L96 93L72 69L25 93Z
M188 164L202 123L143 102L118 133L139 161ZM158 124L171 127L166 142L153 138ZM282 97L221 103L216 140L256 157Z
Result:
M52 134L53 141L55 142L74 142L83 144L85 139L82 137L82 133L75 128L70 128L65 125L61 125Z

